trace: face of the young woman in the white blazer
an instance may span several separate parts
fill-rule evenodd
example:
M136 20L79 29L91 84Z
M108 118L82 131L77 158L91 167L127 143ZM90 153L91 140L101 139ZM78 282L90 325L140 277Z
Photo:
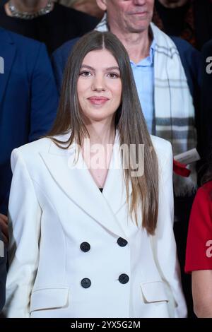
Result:
M122 100L122 81L116 59L107 49L83 59L77 83L78 101L91 121L112 119Z

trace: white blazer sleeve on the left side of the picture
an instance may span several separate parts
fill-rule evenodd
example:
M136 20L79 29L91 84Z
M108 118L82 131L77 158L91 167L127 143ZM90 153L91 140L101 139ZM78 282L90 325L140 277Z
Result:
M7 317L30 316L30 294L39 259L42 210L19 149L11 155L13 179L8 205L10 244L6 282Z

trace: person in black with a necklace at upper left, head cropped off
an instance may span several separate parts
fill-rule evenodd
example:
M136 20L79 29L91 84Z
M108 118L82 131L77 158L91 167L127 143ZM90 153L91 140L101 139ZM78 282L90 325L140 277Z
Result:
M44 42L49 54L97 23L97 18L52 0L9 0L0 6L2 28Z

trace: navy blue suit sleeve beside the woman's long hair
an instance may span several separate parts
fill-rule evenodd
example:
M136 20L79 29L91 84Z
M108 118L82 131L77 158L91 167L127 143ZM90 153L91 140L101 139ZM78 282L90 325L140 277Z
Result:
M52 128L58 107L57 86L45 45L40 44L31 72L31 113L28 141L35 141Z

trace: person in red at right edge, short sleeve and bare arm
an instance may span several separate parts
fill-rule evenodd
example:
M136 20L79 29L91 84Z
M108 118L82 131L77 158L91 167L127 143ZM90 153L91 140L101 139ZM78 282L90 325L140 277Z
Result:
M212 172L211 172L212 174ZM189 220L185 271L192 273L194 312L212 318L212 176L197 191Z

